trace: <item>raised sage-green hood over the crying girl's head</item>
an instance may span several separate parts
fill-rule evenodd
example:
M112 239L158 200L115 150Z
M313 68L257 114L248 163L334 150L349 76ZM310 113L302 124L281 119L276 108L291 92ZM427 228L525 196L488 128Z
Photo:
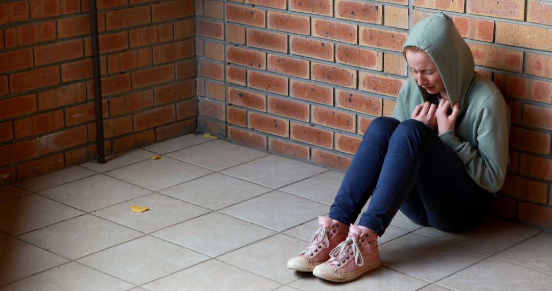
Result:
M452 19L444 13L436 13L420 20L408 33L407 46L416 46L426 52L435 63L450 99L450 106L460 104L464 112L465 96L474 77L475 62L470 47L458 33ZM419 87L427 100L428 93Z

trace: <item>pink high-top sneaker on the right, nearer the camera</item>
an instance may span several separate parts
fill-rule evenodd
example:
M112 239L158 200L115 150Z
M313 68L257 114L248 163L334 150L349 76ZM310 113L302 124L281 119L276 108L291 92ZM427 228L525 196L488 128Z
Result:
M378 234L351 224L347 239L333 249L330 260L316 266L312 274L333 282L348 282L379 266Z

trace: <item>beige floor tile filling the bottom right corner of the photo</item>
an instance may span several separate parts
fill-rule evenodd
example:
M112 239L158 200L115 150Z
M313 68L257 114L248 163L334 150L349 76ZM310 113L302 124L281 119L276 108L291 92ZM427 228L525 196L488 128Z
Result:
M454 290L550 290L552 276L498 258L466 268L439 282Z

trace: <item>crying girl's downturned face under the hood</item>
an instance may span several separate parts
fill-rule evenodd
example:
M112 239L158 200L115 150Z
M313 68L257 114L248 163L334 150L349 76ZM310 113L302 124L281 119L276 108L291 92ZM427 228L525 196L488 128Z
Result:
M407 50L406 61L412 72L412 76L418 83L418 86L426 89L429 94L440 93L441 97L448 99L447 90L443 80L437 71L437 67L431 60L431 57L424 51Z

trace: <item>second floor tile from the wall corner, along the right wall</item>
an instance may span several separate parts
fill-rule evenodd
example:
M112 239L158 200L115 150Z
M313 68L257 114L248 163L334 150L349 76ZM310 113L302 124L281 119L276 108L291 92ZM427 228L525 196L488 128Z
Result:
M230 168L231 166L240 165L266 155L268 155L268 153L238 146L237 144L222 141L221 139L167 154L168 157L214 171L220 171Z

